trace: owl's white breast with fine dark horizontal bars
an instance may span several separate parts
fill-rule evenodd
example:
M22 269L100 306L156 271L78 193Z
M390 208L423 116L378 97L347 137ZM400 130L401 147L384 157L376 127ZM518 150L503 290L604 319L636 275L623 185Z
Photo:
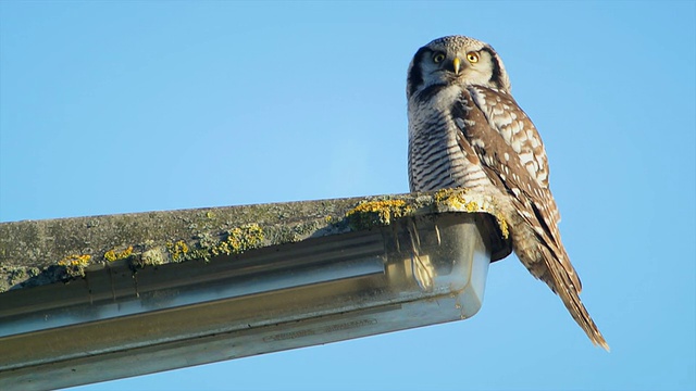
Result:
M481 166L468 159L459 143L461 130L452 121L450 108L460 96L461 87L442 86L423 97L425 100L409 101L411 191L452 187L475 189L489 184Z

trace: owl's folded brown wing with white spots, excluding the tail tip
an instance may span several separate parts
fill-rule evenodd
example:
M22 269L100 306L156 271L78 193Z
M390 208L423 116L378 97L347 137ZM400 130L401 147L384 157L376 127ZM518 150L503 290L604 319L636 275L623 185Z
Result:
M505 93L469 87L452 108L461 130L460 147L468 159L477 159L490 181L506 192L518 214L533 227L554 262L580 292L582 283L570 263L558 230L559 213L548 187L544 144L532 121ZM556 290L556 267L534 273Z

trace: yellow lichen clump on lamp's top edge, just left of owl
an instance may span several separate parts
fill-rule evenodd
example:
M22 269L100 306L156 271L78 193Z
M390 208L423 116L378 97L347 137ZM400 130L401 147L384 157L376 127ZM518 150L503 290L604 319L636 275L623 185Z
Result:
M395 218L413 213L413 207L403 200L368 201L346 213L350 225L356 229L385 226Z

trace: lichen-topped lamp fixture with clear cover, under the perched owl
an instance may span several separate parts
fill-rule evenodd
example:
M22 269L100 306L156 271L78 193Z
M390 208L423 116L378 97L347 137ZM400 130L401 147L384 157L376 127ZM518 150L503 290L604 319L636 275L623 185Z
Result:
M2 267L39 269L0 293L0 389L71 387L468 318L482 305L489 263L510 252L489 199L463 191L133 214L125 228L123 216L0 224ZM223 228L210 222L220 216ZM116 237L92 235L91 253L60 250L62 237L90 229L86 222ZM41 230L54 239L34 239L55 243L38 247L52 258L8 257L9 232Z

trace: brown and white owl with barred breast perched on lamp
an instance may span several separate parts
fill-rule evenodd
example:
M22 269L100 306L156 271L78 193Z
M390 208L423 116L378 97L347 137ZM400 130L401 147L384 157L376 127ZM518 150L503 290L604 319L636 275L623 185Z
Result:
M557 293L595 345L609 350L580 300L582 286L558 229L546 151L510 93L498 53L463 36L420 48L408 70L411 191L463 187L492 194L512 248Z

